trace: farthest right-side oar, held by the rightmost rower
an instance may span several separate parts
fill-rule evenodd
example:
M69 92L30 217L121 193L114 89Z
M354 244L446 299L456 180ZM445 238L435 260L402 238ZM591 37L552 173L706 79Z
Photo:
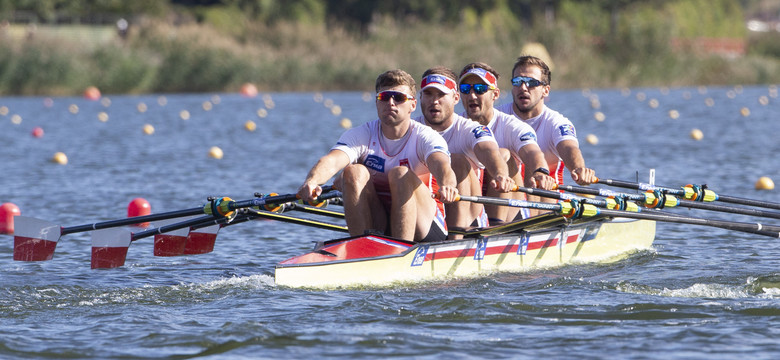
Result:
M767 209L780 210L780 203L763 201L763 200L746 199L746 198L741 198L736 196L721 195L715 193L712 190L707 189L706 185L688 184L683 186L681 189L674 189L670 187L656 186L656 185L650 185L645 183L635 183L635 182L615 180L615 179L598 179L598 183L610 185L610 186L628 188L628 189L636 189L636 190L661 190L667 194L681 196L686 200L692 200L692 201L712 202L717 200L717 201L727 202L731 204L748 205L748 206L756 206L756 207L762 207Z

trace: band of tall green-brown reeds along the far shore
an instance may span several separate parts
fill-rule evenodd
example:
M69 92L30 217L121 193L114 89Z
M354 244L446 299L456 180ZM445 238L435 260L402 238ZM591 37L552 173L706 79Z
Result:
M434 65L458 71L472 61L497 68L500 86L509 88L511 66L530 41L551 53L557 89L780 83L780 60L772 56L777 50L765 38L759 39L763 52L729 59L675 51L668 24L653 21L595 39L571 24L524 28L500 13L486 16L467 13L450 26L381 18L363 31L285 22L147 21L124 40L106 40L101 29L95 43L6 36L0 37L0 94L77 95L89 85L104 93L233 92L245 82L261 91L372 91L376 75L387 69L417 78Z

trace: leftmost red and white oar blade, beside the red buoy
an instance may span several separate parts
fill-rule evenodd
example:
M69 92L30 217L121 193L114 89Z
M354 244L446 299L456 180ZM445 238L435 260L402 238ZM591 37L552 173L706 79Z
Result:
M14 217L14 260L45 261L54 256L61 227L27 216Z

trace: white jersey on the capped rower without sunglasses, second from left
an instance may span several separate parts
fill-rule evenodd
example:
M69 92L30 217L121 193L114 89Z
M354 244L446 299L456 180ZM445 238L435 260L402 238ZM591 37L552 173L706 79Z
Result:
M452 125L439 134L447 141L447 148L451 154L464 154L471 161L474 168L483 169L485 166L479 162L474 153L474 147L483 141L496 142L493 133L487 126L478 122L471 121L458 114L453 114L455 120ZM414 119L416 122L425 125L425 117L420 115ZM426 125L426 127L428 127Z

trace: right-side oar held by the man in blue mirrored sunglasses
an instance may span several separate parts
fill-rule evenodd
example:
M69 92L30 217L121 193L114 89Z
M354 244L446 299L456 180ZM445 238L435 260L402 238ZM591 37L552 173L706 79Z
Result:
M645 193L642 194L627 194L627 193L614 192L608 189L590 188L590 187L577 186L577 185L558 185L558 189L581 193L581 194L611 196L615 198L622 197L633 201L639 201L642 204L644 204L645 207L656 208L656 209L682 206L690 209L702 209L702 210L725 212L730 214L751 215L751 216L759 216L759 217L766 217L772 219L780 219L780 213L774 211L748 209L743 207L721 205L716 203L704 203L704 202L691 201L691 200L682 200L682 199L678 199L672 194L664 193L664 190L662 189L647 190Z

